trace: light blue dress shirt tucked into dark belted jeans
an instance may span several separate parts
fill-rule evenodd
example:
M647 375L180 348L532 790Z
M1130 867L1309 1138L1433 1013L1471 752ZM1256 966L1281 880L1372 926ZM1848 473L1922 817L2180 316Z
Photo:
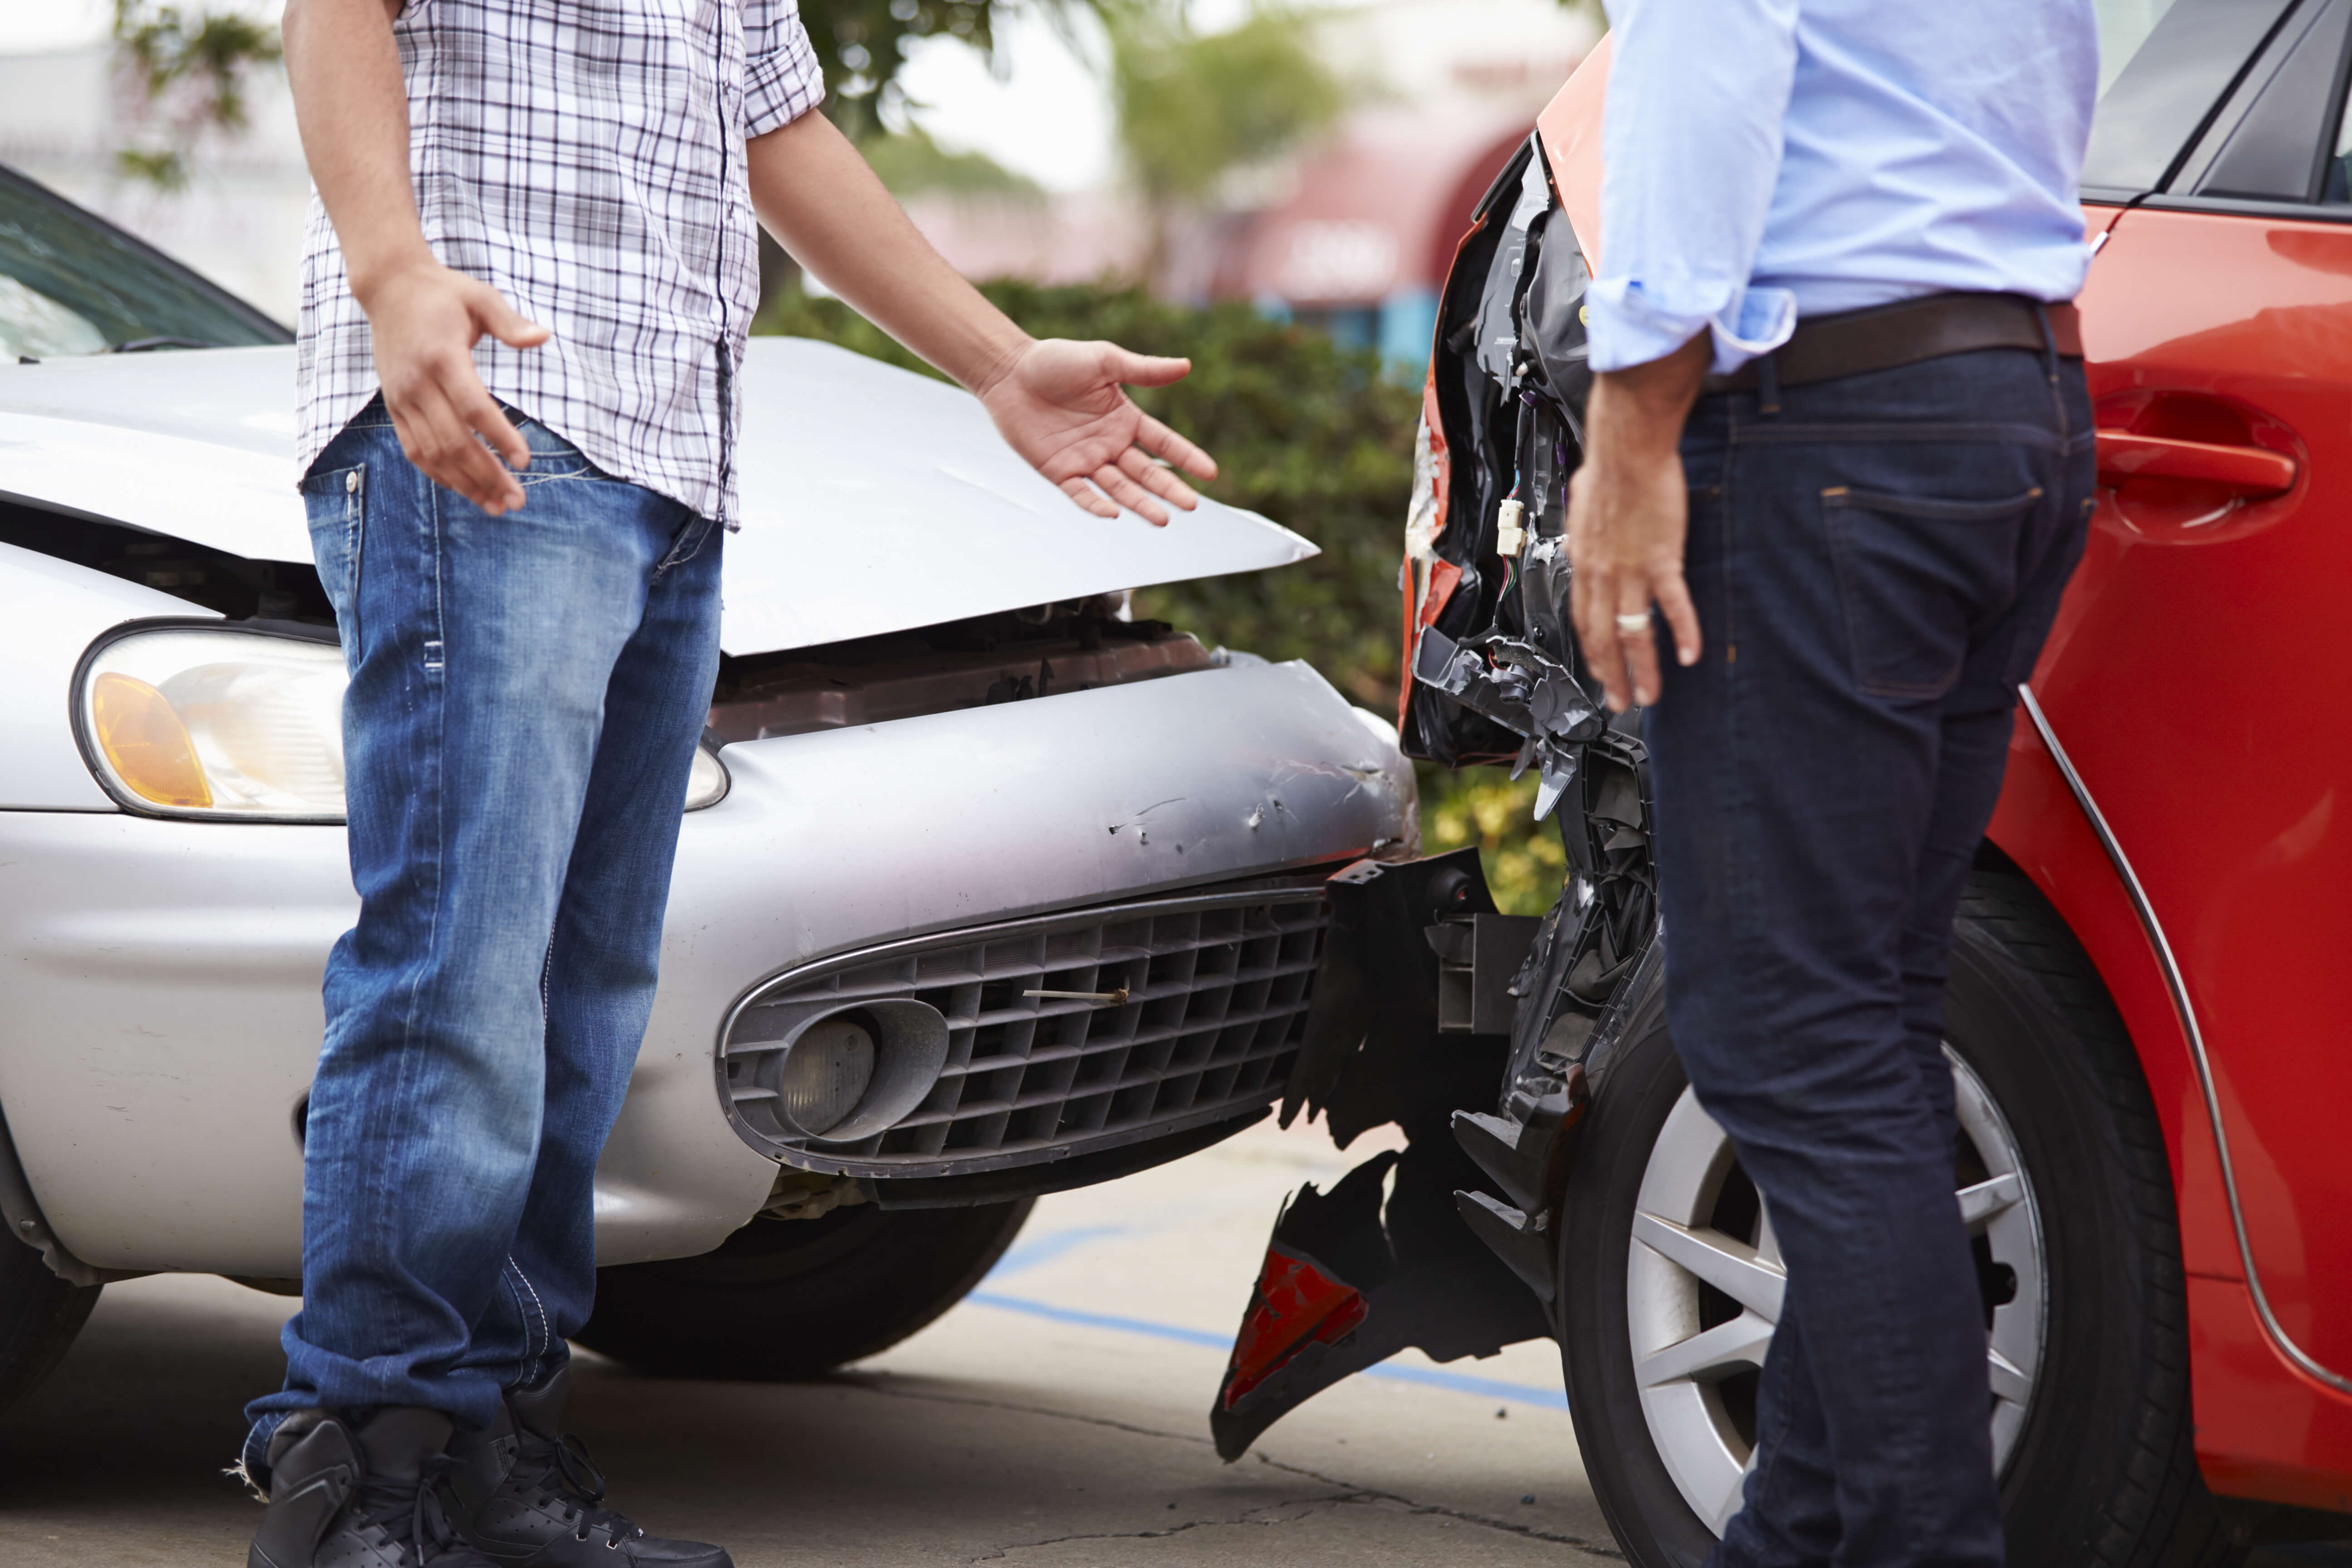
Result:
M1592 369L1943 289L2074 299L2091 0L1609 0Z

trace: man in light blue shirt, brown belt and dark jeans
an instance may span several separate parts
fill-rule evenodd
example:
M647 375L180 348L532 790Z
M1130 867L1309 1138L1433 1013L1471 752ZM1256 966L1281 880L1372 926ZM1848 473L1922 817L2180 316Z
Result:
M1653 705L1668 1023L1788 1267L1738 1512L1691 1526L1719 1568L1994 1568L2018 1380L1943 980L2093 496L2091 0L1609 19L1576 630Z

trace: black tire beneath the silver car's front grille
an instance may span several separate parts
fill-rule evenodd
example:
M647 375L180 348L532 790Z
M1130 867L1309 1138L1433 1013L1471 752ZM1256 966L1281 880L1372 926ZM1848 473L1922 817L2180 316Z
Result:
M964 1300L1030 1204L760 1218L701 1258L597 1269L595 1312L576 1338L670 1378L818 1378Z

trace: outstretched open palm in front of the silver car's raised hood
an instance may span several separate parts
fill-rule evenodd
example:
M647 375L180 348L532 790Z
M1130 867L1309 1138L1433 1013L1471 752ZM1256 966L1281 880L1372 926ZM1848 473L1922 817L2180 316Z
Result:
M1167 386L1192 369L1190 360L1157 360L1117 343L1025 343L993 381L978 388L997 433L1070 501L1096 517L1129 508L1167 524L1167 508L1192 510L1200 496L1152 458L1167 458L1195 480L1214 480L1207 451L1138 409L1122 386Z

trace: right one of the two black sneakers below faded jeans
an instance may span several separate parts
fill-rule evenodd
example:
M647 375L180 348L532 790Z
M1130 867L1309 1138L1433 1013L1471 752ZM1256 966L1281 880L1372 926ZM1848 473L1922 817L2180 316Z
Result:
M452 1519L473 1549L503 1568L734 1568L720 1547L647 1535L604 1507L588 1446L562 1429L569 1392L557 1366L536 1389L508 1389L489 1432L456 1441Z

